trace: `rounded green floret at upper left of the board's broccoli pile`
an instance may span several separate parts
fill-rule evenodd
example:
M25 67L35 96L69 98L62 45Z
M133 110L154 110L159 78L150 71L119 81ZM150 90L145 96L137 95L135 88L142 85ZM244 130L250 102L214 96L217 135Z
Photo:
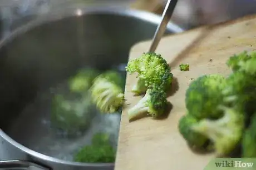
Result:
M204 75L195 79L185 94L189 113L197 119L221 117L222 112L216 108L223 101L221 91L225 86L225 77L219 74Z

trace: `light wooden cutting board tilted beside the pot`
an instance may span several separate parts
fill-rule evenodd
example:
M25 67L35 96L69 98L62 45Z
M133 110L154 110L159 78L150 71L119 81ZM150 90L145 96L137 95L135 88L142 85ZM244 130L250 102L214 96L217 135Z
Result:
M140 57L149 49L151 40L131 48L130 59ZM172 68L179 89L168 101L173 104L168 118L150 117L129 122L127 110L142 96L134 97L131 87L135 75L126 79L127 106L122 111L119 147L115 170L201 170L214 154L192 152L178 132L178 120L186 112L185 91L191 78L203 74L227 75L225 65L234 53L256 50L256 16L164 37L156 53L163 55ZM190 71L181 72L179 64L189 63ZM256 67L256 66L255 66Z

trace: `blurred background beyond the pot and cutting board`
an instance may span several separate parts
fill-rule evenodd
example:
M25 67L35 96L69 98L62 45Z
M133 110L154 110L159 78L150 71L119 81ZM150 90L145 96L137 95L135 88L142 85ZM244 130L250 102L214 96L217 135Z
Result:
M2 36L31 19L76 3L125 7L161 14L165 0L1 0ZM255 0L179 0L171 21L184 29L228 21L256 12Z

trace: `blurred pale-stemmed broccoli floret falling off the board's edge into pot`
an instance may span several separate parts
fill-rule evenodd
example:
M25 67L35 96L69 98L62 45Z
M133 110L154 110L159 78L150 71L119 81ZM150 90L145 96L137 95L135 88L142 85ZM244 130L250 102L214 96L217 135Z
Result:
M115 71L102 73L93 81L91 94L102 113L114 113L124 103L124 78Z

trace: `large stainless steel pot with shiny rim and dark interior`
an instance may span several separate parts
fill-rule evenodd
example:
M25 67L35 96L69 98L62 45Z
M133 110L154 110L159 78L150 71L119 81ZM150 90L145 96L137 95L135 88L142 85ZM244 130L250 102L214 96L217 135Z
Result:
M47 132L35 124L43 112L24 117L22 110L38 92L77 68L125 66L131 46L152 38L159 22L155 14L131 9L75 7L42 16L4 38L0 42L0 169L114 169L114 163L65 161L25 147L26 142L36 146ZM182 31L169 23L166 33Z

